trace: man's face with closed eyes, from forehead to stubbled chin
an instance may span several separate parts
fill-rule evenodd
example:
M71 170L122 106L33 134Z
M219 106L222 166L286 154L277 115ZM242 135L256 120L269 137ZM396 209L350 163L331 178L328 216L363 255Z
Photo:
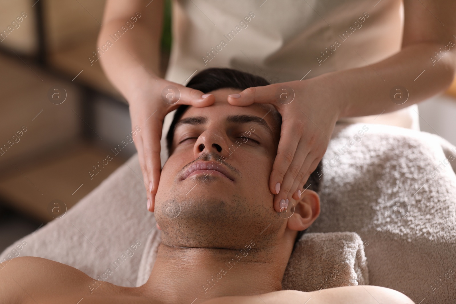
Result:
M280 134L275 109L230 105L227 96L239 92L211 92L212 106L189 107L176 124L155 196L155 218L167 245L237 248L269 224L263 240L285 229L268 184Z

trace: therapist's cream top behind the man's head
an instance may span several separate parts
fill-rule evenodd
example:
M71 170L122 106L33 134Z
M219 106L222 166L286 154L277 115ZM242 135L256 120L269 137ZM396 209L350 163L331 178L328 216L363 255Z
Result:
M401 0L175 0L172 13L166 79L184 85L209 67L272 83L363 67L400 51L404 21ZM419 129L417 111L339 121Z

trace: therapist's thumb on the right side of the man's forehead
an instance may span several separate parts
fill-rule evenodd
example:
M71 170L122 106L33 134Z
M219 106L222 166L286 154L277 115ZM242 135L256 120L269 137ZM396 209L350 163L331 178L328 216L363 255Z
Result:
M233 106L248 106L252 103L277 103L280 99L280 85L269 84L262 87L246 88L238 94L228 95L228 103Z

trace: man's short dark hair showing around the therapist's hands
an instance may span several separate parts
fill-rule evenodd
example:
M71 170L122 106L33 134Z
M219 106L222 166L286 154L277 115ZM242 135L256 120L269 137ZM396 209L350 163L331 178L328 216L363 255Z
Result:
M234 88L239 90L245 90L250 87L262 87L267 86L270 83L263 77L255 76L247 72L241 72L238 70L233 70L230 68L218 68L213 67L206 70L203 70L196 74L188 83L188 88L193 88L200 90L202 93L209 93L221 88ZM174 113L174 118L171 122L170 129L166 135L166 144L168 148L168 156L172 153L172 142L174 138L174 129L176 128L176 123L181 119L183 113L188 108L188 105L181 105L176 109ZM282 116L279 112L274 111L275 121L279 125L282 124ZM279 135L280 136L280 135ZM322 176L322 165L321 161L318 163L316 169L311 173L309 179L304 185L303 189L313 190L317 193L320 191ZM296 236L295 244L301 236L305 233L306 230L298 231ZM294 247L293 247L294 248Z

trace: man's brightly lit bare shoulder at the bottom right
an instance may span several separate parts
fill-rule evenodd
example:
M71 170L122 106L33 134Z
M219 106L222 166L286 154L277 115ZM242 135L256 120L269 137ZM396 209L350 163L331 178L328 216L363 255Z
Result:
M298 290L280 290L254 296L231 296L211 299L202 304L415 304L405 294L394 289L379 286L358 285L344 286L319 291L303 292Z

